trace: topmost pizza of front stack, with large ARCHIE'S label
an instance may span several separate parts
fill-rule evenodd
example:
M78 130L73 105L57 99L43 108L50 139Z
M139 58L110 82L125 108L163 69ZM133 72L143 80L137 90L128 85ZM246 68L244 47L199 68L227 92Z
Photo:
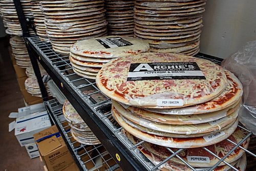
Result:
M179 66L197 68L197 74L179 74ZM98 73L96 83L105 95L126 105L183 108L220 95L227 86L227 78L220 66L205 59L171 53L142 53L110 61Z

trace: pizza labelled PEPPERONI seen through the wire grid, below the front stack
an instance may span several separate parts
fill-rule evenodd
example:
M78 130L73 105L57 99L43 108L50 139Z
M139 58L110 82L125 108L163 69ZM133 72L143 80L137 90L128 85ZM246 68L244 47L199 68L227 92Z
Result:
M141 140L133 136L132 134L128 133L127 131L123 131L123 133L132 141L135 143L140 142ZM228 137L229 140L233 141L234 143L240 142L245 136L247 135L247 132L243 129L237 128L236 131ZM249 145L249 138L246 139L241 146L244 148L247 148ZM156 145L149 142L142 142L141 146L146 149L148 152L153 153L154 155L160 157L160 158L167 158L172 155L168 151L168 149L164 146ZM223 158L229 151L231 151L232 148L234 148L234 144L227 140L223 140L219 143L205 146L209 151L214 153L215 155L219 156L220 158ZM176 152L177 148L170 148L174 152ZM241 156L244 154L243 149L236 148L234 151L225 159L226 162L232 163L237 161L241 158ZM187 148L183 149L183 151L179 152L178 155L185 160L188 164L190 164L193 167L212 167L214 166L219 159L216 158L214 155L207 152L202 147L197 148ZM173 157L170 159L171 162L184 165L184 162L182 162L177 157ZM225 163L220 163L220 165L224 165Z

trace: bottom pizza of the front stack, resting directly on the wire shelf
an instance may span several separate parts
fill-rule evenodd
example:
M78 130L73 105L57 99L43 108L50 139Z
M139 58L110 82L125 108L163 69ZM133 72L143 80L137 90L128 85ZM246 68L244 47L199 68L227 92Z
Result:
M229 129L223 130L219 133L215 133L212 135L206 135L203 137L195 138L172 138L141 132L139 130L134 129L134 127L130 126L129 124L125 123L124 120L118 114L115 113L115 111L113 111L112 114L115 120L119 123L119 125L122 126L124 130L134 135L135 137L142 139L146 142L151 142L157 145L164 145L166 147L173 148L195 148L216 144L229 137L236 130L238 125L237 120L235 123L233 123L231 127L229 127Z

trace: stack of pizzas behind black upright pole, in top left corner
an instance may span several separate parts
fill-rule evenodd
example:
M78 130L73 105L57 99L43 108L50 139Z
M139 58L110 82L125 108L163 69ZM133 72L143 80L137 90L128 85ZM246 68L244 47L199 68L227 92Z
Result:
M31 13L31 3L30 1L22 1L22 8L25 16L32 16ZM0 1L0 10L2 13L3 21L5 24L6 33L10 35L18 35L22 36L22 28L20 26L18 15L16 12L15 5L13 3L13 0L3 0ZM29 30L30 34L35 34L32 29Z

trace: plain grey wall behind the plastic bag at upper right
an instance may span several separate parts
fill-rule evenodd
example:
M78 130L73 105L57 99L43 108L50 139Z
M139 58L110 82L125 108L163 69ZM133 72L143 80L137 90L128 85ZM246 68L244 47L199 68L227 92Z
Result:
M208 0L200 52L226 58L256 40L255 0Z

